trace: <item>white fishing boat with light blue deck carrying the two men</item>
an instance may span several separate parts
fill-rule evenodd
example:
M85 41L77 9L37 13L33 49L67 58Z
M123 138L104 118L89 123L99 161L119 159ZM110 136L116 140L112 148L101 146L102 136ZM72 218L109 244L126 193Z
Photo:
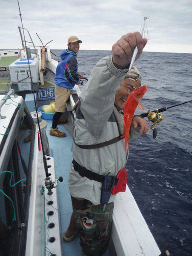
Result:
M81 90L76 85L67 102L67 137L49 136L52 120L37 115L34 99L38 109L54 101L58 62L46 45L36 49L27 31L32 54L19 31L23 47L0 51L0 255L79 256L79 238L66 242L62 233L72 213L72 119ZM107 255L161 255L128 186L114 201Z

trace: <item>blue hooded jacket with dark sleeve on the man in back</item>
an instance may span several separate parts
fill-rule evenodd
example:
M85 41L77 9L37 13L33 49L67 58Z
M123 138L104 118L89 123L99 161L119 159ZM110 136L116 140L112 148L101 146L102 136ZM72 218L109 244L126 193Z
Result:
M56 68L55 84L67 89L73 89L75 84L80 80L77 76L77 59L76 53L69 49L61 52L61 59Z

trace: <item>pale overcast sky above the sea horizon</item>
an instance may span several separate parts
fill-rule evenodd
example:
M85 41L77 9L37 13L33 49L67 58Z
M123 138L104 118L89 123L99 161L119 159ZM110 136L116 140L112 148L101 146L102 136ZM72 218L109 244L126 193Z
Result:
M17 0L0 0L0 49L20 48ZM145 51L192 53L192 0L20 0L23 25L52 49L76 35L80 49L111 50L128 32L140 31L143 17L150 40ZM27 40L28 41L28 40Z

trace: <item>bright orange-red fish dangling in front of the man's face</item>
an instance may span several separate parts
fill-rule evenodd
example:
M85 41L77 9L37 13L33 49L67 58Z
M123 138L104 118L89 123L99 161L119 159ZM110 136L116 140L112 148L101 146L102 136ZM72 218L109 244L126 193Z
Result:
M127 97L127 100L125 102L125 108L124 108L124 134L125 134L125 151L128 148L128 142L129 142L129 130L131 127L131 121L133 119L135 110L138 105L142 106L139 102L143 98L143 95L147 91L147 86L143 85L135 90L133 90L129 96ZM143 106L142 106L143 107Z

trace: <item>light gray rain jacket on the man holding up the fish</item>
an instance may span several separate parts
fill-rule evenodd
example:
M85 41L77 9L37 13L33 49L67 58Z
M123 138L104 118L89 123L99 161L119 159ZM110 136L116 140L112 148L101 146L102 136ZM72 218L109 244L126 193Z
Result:
M113 65L112 57L103 58L93 68L89 81L81 91L80 104L76 109L73 132L76 144L98 144L119 136L113 108L115 93L127 72L128 69L118 70ZM131 127L130 139L139 136L139 129ZM124 142L123 139L96 149L79 148L73 143L73 159L92 172L116 176L126 164ZM100 204L101 187L102 183L81 177L72 164L69 188L73 197ZM115 195L111 195L109 203L114 199Z

